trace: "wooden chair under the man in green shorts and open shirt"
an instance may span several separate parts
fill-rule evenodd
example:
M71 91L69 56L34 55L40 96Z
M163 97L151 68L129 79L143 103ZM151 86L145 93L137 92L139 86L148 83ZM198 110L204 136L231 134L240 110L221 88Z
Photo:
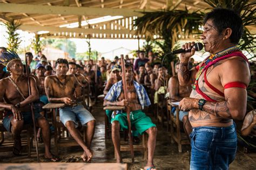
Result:
M124 110L125 107L117 107L117 106L107 106L103 108L104 110L113 110L114 115L116 115L117 110ZM147 159L147 138L145 133L142 135L142 144L140 145L133 145L133 150L134 151L140 151L144 153L144 160ZM120 151L131 151L130 145L120 145ZM114 151L114 158L116 158L116 151Z

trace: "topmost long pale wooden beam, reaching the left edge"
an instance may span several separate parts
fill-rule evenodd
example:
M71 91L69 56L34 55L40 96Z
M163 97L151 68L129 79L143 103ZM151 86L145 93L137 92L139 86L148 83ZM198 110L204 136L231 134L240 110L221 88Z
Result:
M61 15L85 15L85 16L143 16L140 12L152 12L153 10L135 10L135 9L110 9L110 8L86 8L70 6L46 6L46 5L28 5L28 4L1 4L0 12L14 13L39 13L39 14L61 14Z

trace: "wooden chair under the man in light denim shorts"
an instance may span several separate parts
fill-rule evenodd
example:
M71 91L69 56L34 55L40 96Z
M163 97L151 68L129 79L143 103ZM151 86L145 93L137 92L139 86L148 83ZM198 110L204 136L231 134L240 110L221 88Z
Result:
M54 144L55 152L58 153L58 147L60 146L76 146L78 145L72 137L69 136L68 129L60 121L59 108L64 108L64 103L48 103L44 105L43 109L52 109L52 125L54 127ZM78 126L82 126L79 124ZM85 128L83 128L83 139L85 141Z

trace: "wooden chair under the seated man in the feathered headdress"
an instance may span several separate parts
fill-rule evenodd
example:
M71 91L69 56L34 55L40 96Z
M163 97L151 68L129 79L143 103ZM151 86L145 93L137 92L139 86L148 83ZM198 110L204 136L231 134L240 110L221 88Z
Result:
M4 141L4 133L7 130L3 126L3 112L4 109L0 108L0 133L1 133L1 141L0 141L0 152L9 152L12 151L14 146L14 141ZM28 158L31 155L31 147L32 147L32 127L31 125L24 125L23 132L26 132L26 139L22 139L22 146L26 146L28 150Z

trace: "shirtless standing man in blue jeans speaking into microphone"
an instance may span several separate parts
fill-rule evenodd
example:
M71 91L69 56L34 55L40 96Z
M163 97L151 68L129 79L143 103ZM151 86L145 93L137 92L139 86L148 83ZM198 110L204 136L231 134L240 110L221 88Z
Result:
M211 55L188 70L188 60L195 52L194 42L182 46L192 50L180 55L179 83L194 83L194 90L180 101L179 108L190 110L190 169L228 169L237 150L233 119L245 116L246 87L250 82L248 60L237 47L242 20L234 11L218 8L207 13L204 24L200 38Z

